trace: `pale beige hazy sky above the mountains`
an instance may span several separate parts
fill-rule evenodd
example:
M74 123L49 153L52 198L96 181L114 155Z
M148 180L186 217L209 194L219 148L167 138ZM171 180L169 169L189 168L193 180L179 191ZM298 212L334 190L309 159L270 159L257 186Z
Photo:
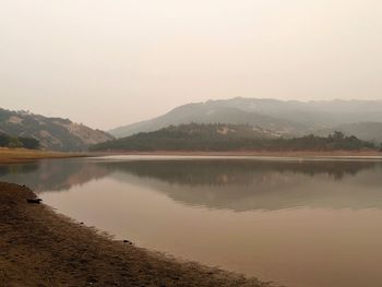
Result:
M213 98L382 99L381 0L0 0L0 107L108 129Z

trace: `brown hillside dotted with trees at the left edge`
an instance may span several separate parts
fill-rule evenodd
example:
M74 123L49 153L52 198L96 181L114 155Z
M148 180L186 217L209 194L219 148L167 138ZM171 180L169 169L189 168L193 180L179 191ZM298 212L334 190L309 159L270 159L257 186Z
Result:
M74 123L69 119L47 118L27 111L0 108L0 132L11 136L33 137L44 150L80 152L87 146L112 140L114 136Z

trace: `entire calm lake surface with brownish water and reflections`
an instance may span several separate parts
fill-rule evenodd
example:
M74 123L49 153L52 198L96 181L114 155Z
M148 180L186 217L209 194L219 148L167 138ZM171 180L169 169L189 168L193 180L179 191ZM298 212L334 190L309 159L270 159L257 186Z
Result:
M79 222L296 287L382 286L382 164L91 158L0 166Z

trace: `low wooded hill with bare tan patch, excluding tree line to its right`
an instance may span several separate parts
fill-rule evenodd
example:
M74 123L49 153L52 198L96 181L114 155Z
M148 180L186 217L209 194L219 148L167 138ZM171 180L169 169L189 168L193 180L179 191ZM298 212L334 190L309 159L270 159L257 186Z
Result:
M253 141L279 137L247 124L189 123L96 144L91 151L230 151L248 147Z

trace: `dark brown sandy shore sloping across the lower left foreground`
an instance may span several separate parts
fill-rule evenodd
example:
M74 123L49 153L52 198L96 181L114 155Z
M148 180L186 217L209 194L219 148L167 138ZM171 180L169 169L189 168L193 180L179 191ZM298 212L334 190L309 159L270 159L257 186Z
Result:
M112 240L0 182L0 286L270 286Z

